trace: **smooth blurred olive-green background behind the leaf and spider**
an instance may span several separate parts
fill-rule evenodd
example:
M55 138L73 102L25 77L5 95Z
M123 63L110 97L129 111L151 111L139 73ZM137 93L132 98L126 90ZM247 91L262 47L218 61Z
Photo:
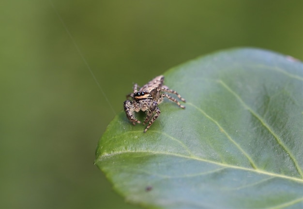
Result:
M1 0L0 27L0 208L138 208L93 164L134 82L230 47L303 59L302 0Z

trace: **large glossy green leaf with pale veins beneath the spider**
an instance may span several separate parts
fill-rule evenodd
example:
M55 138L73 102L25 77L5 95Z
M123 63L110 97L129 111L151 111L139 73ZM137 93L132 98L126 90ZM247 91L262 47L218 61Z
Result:
M146 133L121 112L99 142L117 192L148 208L303 208L302 62L232 49L164 75L186 109L164 101Z

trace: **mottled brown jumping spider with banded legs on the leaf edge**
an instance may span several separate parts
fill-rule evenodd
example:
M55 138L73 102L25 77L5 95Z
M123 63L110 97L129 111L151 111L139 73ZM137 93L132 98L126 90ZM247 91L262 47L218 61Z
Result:
M141 123L135 118L135 112L139 112L140 110L143 112L147 111L146 119L144 120L143 125L145 125L148 121L150 122L144 132L146 132L151 127L152 123L159 117L161 112L158 104L163 101L164 97L167 97L169 100L177 103L180 107L185 109L185 106L181 105L175 98L167 93L161 93L164 91L176 94L179 99L185 102L185 99L183 99L180 94L178 94L175 90L168 89L167 86L163 85L163 82L164 76L159 75L145 84L139 90L138 85L135 84L133 87L134 92L126 96L126 98L131 97L133 99L132 101L126 100L124 102L124 110L127 118L134 125L136 125L136 123Z

